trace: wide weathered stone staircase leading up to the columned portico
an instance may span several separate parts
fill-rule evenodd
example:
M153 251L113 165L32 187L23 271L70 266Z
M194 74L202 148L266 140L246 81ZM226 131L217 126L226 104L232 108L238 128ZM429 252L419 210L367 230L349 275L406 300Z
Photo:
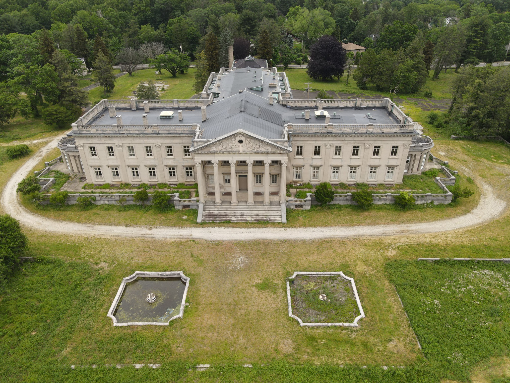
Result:
M201 222L282 222L282 218L281 205L203 205Z

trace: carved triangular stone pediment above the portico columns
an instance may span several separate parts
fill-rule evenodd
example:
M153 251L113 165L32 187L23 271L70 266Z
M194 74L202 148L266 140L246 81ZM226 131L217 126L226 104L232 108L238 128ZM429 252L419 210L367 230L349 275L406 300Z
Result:
M282 153L287 154L291 148L271 142L262 137L249 134L240 129L238 131L219 137L199 147L192 148L195 154L199 153Z

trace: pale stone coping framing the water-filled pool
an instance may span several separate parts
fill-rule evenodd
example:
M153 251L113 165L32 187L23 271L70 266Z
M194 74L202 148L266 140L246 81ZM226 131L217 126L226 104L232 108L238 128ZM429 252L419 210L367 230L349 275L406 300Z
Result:
M179 314L170 318L168 322L126 322L120 323L117 322L117 318L113 315L115 312L115 308L119 304L120 297L124 291L126 283L133 282L138 277L159 277L159 278L171 278L171 277L181 277L183 282L186 282L186 286L184 287L183 301L181 302L181 309L179 310ZM112 318L114 326L140 326L140 325L155 325L155 326L168 326L168 324L176 318L182 318L184 315L184 305L186 303L186 295L188 294L188 286L189 286L190 278L184 275L182 271L135 271L129 277L125 277L122 279L122 283L120 283L119 290L117 291L117 295L108 310L108 316Z

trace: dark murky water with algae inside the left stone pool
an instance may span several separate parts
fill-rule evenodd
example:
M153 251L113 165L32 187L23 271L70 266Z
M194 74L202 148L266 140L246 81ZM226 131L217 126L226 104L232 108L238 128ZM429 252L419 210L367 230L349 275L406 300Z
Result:
M138 277L126 284L113 315L118 323L166 323L179 314L185 286L181 277ZM149 293L156 295L154 303L145 300Z

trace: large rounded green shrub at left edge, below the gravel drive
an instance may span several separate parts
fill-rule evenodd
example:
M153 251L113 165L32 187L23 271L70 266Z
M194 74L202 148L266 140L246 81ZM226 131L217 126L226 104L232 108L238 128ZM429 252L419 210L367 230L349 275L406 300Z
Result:
M28 238L21 232L18 221L8 214L0 216L0 281L12 271L27 245Z

